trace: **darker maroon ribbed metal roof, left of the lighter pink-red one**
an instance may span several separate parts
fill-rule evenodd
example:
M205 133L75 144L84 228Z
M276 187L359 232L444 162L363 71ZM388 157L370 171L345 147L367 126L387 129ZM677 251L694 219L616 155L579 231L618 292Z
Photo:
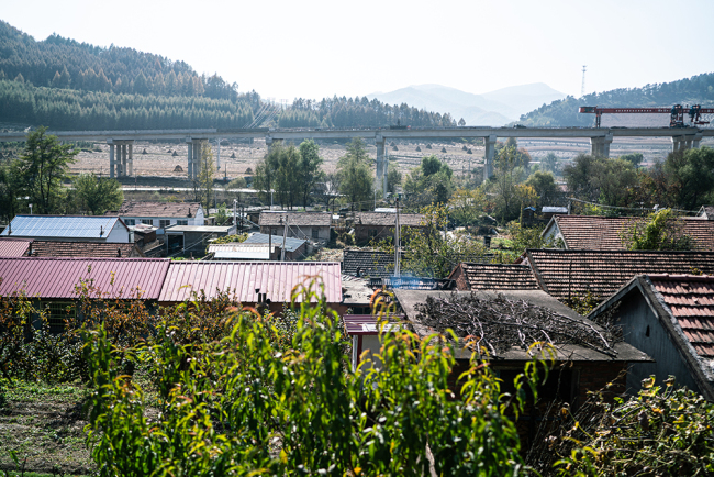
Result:
M158 298L168 270L166 258L0 258L0 296L23 291L37 298L77 298L75 286L91 279L103 293Z

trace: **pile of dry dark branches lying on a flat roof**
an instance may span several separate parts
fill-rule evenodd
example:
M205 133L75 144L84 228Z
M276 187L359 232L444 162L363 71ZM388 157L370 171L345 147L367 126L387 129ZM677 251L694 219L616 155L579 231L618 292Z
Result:
M459 337L471 336L492 356L518 346L527 350L536 342L576 344L615 356L613 344L622 341L616 328L598 329L524 300L502 295L480 299L473 295L428 297L416 306L417 319L439 332L451 329Z

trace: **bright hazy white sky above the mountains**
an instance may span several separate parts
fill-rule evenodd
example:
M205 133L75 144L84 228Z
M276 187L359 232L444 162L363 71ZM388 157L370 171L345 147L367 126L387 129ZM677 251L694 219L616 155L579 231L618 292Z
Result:
M679 7L678 7L679 5ZM580 96L714 71L714 1L0 0L44 40L127 46L264 98L545 82ZM696 26L696 25L700 26Z

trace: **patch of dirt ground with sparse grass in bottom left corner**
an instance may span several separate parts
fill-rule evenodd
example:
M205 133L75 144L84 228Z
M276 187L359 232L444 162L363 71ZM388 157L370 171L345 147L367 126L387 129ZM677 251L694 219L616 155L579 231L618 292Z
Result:
M8 386L0 402L0 469L20 470L10 457L15 451L27 472L89 475L93 464L85 445L85 395L80 386Z

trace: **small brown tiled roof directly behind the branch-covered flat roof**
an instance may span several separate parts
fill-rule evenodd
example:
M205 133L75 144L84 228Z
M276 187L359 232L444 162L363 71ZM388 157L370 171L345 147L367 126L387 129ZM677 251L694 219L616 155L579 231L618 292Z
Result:
M473 264L459 265L471 290L537 290L533 270L527 265Z

